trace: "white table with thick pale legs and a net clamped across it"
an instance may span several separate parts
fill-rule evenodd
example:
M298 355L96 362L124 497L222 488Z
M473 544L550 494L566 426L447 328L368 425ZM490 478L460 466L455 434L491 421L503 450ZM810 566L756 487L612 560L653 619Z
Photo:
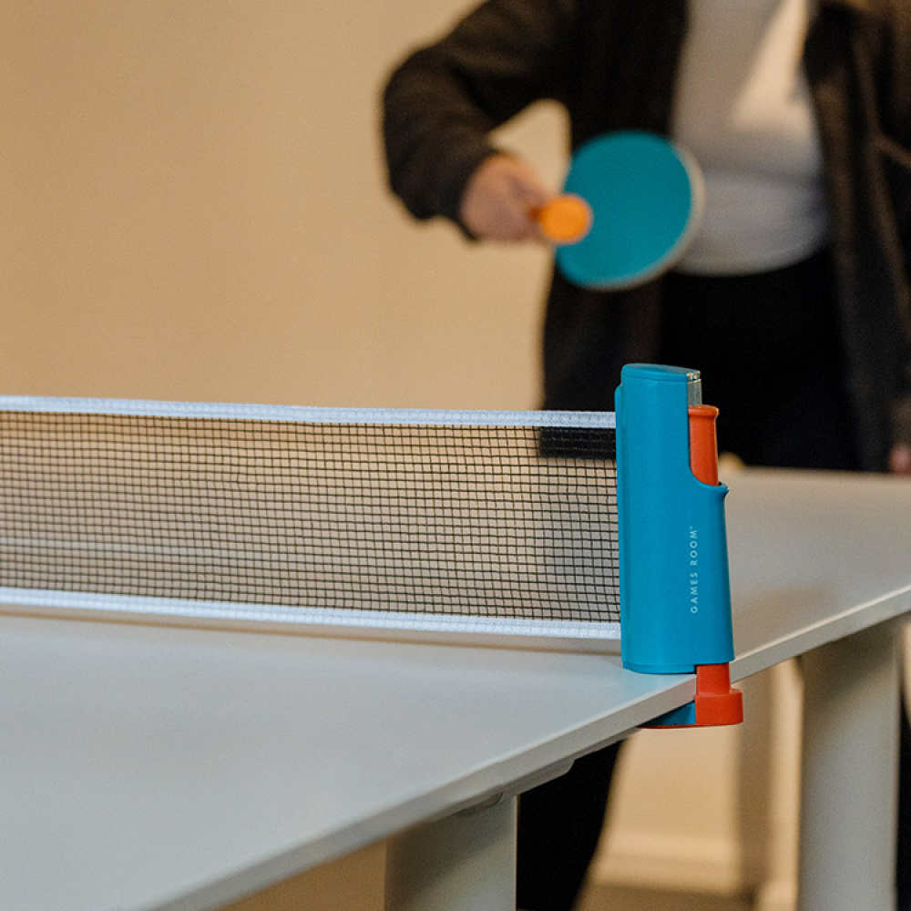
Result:
M911 485L733 481L732 677L804 656L800 907L892 911ZM517 794L695 690L609 654L22 609L0 629L17 911L214 908L384 839L390 911L506 911Z

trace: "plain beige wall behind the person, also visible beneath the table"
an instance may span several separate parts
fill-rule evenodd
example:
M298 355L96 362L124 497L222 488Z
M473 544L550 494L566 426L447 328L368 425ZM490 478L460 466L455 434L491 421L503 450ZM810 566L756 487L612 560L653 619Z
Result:
M464 5L0 5L0 394L536 405L546 251L471 248L384 188L384 74ZM556 184L558 114L507 133ZM600 868L660 880L710 856L703 885L724 887L736 735L652 736ZM374 883L377 853L358 864ZM339 869L292 888L333 906Z

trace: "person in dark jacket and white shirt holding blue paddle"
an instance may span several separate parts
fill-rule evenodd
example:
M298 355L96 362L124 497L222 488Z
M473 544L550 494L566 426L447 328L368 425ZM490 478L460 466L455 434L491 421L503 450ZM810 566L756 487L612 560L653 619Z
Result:
M390 186L473 241L538 241L531 212L552 193L497 126L549 99L573 150L620 129L673 138L704 174L701 230L634 288L554 271L543 406L610 410L624 363L692 366L720 448L748 465L909 474L908 73L904 0L487 0L389 77ZM574 906L616 757L523 796L518 906ZM899 865L903 911L909 875Z

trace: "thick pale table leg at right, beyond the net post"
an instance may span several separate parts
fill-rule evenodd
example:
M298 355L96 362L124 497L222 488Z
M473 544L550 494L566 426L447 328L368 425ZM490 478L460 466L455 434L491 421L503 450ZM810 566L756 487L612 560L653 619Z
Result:
M804 656L800 911L895 911L897 630Z

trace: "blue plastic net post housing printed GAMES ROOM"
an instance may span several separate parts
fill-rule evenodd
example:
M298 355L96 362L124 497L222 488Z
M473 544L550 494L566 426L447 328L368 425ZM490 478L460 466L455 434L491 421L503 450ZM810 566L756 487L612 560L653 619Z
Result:
M623 666L692 673L733 660L724 497L690 467L698 372L628 364L616 395Z

